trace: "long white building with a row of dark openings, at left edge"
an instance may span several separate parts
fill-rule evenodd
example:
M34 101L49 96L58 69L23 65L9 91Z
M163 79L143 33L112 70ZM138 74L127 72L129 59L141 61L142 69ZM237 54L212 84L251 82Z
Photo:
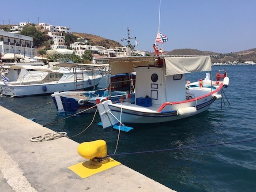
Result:
M0 30L0 53L19 53L34 57L37 55L37 47L34 46L32 37Z

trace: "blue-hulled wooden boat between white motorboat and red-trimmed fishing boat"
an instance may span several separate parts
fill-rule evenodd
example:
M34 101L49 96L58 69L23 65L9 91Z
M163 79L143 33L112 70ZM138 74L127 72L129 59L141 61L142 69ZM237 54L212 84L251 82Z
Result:
M108 77L106 77L107 79ZM119 102L124 98L134 103L134 86L136 74L117 74L110 77L110 85L106 89L92 91L64 91L52 94L53 102L60 114L93 113L96 99L101 102L111 100ZM106 85L108 81L106 80Z

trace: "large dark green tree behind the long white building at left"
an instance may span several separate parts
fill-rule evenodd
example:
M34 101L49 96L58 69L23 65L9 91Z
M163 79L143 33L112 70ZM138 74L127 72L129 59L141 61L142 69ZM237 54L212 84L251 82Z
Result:
M20 34L32 37L34 46L41 45L45 40L45 34L42 34L41 31L38 31L34 26L24 26Z

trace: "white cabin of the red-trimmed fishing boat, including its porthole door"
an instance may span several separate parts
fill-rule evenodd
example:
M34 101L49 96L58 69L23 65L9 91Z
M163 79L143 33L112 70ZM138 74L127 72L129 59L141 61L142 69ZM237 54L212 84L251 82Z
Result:
M151 98L152 106L157 108L167 101L185 100L184 75L165 76L164 69L163 67L138 67L134 69L136 71L136 98Z

